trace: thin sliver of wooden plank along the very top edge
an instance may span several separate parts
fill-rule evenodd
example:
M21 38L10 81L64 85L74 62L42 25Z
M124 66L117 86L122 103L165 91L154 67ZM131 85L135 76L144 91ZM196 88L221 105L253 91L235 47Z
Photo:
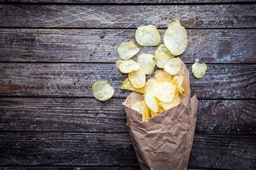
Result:
M0 0L0 2L19 2L19 3L93 3L93 4L130 4L130 3L241 3L241 2L254 2L253 0Z

